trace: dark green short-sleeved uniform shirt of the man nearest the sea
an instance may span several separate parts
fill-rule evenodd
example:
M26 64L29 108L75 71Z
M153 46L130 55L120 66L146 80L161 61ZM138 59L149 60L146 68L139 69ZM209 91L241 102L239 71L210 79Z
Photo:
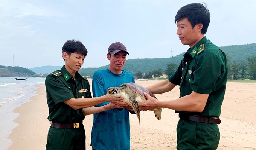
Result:
M61 70L55 71L46 77L46 97L49 107L48 119L54 123L77 123L82 122L85 116L82 109L74 110L63 101L70 98L92 97L90 85L87 78L78 72L76 80L63 66Z

